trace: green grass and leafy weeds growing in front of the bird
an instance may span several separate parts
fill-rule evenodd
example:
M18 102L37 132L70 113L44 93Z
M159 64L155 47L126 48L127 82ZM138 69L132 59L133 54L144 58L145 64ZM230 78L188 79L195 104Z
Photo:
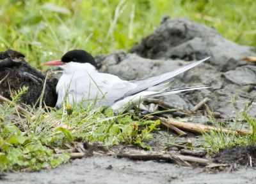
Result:
M37 171L56 167L70 159L65 143L100 141L106 146L136 145L151 138L159 121L141 120L128 114L114 115L111 109L63 104L60 110L45 111L26 106L26 113L17 111L16 103L26 93L24 87L12 96L11 102L0 103L0 171Z

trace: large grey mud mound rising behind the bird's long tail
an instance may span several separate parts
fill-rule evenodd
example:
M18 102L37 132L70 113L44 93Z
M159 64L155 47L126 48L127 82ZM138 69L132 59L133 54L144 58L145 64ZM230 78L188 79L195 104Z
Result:
M156 31L142 39L131 52L150 59L203 59L221 71L245 64L244 56L255 55L249 46L240 46L223 38L215 29L186 18L166 18Z

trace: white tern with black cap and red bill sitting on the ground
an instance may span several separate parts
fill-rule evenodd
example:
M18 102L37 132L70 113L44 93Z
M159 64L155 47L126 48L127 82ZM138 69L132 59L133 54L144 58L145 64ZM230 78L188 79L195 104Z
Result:
M160 97L189 90L208 88L206 85L169 90L170 81L174 76L184 73L205 60L199 60L180 67L175 71L142 78L137 80L122 80L114 74L100 73L93 56L85 50L70 50L60 60L45 62L45 66L60 66L63 74L56 85L58 100L56 108L67 100L68 104L95 103L95 106L106 106L114 111L124 111L132 104L138 104L149 97Z

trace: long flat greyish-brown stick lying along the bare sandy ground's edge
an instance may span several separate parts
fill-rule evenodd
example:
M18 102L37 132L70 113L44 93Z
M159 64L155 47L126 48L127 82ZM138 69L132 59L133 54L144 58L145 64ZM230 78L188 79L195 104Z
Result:
M194 162L200 165L208 165L211 161L207 159L201 159L198 157L185 156L185 155L172 155L172 154L163 154L163 153L118 153L116 155L118 158L129 158L134 160L166 160L168 162Z

